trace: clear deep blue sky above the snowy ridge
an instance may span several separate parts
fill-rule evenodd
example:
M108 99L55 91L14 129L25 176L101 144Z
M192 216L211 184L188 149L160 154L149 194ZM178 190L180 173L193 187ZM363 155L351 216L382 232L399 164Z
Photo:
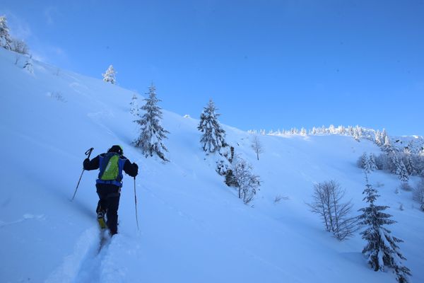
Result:
M35 58L240 129L424 135L424 0L2 0Z

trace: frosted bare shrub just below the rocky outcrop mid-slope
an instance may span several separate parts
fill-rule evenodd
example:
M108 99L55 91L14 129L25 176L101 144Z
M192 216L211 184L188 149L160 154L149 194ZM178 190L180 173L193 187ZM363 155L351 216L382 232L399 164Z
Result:
M253 200L259 186L261 185L259 176L252 173L250 166L240 156L235 156L231 163L231 171L238 187L238 197L248 204Z

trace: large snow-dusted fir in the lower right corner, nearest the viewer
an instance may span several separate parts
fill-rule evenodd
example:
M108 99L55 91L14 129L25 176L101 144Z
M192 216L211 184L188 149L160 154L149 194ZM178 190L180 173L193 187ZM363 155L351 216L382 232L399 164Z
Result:
M365 227L365 230L360 234L367 242L363 248L363 254L367 257L368 264L373 270L384 270L384 267L390 267L396 273L396 280L399 283L408 282L408 275L411 271L405 267L401 260L406 260L399 250L397 243L403 242L401 239L391 236L391 231L385 228L385 225L394 224L396 221L391 220L390 214L384 213L387 206L375 205L377 190L368 183L367 175L365 174L365 202L367 207L359 209L362 214L359 216L360 225Z

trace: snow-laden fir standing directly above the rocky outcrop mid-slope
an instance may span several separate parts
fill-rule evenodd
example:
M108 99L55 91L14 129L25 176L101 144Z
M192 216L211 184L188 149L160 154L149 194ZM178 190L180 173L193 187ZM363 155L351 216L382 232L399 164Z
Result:
M212 99L209 100L208 105L200 115L200 122L197 129L203 133L201 137L202 148L206 152L213 153L219 151L222 147L227 146L225 142L225 131L218 122L220 114L216 112Z

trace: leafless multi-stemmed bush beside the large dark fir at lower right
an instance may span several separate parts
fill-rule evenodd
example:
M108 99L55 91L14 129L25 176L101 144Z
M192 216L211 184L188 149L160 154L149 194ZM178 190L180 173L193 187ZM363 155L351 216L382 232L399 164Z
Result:
M326 231L342 241L357 230L357 218L351 217L353 204L341 202L345 190L334 180L314 185L313 201L308 204L311 212L322 217Z

